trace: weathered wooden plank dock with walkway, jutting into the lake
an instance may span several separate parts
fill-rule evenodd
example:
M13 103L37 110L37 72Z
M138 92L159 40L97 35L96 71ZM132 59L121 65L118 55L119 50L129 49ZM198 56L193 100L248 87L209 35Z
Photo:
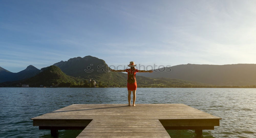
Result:
M70 105L32 118L33 126L51 130L83 130L77 138L169 137L166 130L213 130L221 118L184 104Z

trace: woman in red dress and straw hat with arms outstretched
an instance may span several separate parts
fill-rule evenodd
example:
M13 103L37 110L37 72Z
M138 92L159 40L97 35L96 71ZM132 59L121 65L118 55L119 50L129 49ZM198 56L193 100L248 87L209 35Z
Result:
M133 106L135 106L135 100L136 100L136 89L137 89L137 82L136 82L136 73L137 72L150 72L152 73L152 70L149 71L143 71L143 70L137 70L135 68L135 64L133 61L130 62L128 65L131 68L127 68L126 70L111 70L112 72L127 72L127 89L128 89L128 106L131 106L131 93L133 94ZM130 75L131 74L131 75Z

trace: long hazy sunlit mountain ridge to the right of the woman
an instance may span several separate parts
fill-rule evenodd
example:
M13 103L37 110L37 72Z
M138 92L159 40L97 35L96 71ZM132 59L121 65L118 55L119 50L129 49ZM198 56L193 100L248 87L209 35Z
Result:
M170 69L171 72L161 72ZM256 85L256 64L182 64L138 75L152 78L176 78L219 86Z

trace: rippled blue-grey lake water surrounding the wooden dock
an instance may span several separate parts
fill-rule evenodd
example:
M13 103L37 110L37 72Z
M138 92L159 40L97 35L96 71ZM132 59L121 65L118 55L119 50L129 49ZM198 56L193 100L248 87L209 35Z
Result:
M51 137L33 126L33 117L72 104L127 103L126 88L0 88L0 137ZM137 88L136 103L184 103L222 118L203 136L256 137L256 89ZM76 137L81 130L61 130ZM194 137L192 130L168 130L172 138Z

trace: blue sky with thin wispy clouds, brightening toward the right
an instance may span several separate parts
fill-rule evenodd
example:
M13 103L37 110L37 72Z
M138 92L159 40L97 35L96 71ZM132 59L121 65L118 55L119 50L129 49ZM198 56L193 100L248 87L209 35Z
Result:
M256 1L1 1L0 66L256 63ZM121 69L121 68L120 68Z

